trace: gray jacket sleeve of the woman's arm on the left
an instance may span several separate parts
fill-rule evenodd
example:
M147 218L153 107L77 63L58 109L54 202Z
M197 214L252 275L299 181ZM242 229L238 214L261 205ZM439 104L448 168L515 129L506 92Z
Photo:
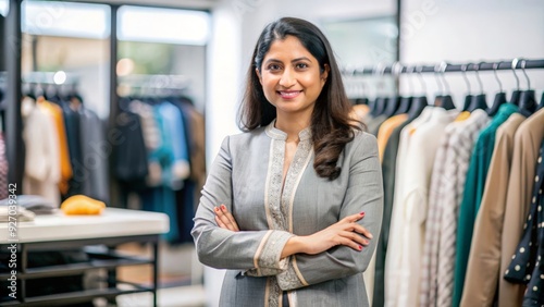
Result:
M249 271L251 275L273 275L284 271L288 258L281 253L293 234L285 231L240 231L221 229L213 207L233 207L230 138L221 145L202 189L191 235L200 262L218 269Z

